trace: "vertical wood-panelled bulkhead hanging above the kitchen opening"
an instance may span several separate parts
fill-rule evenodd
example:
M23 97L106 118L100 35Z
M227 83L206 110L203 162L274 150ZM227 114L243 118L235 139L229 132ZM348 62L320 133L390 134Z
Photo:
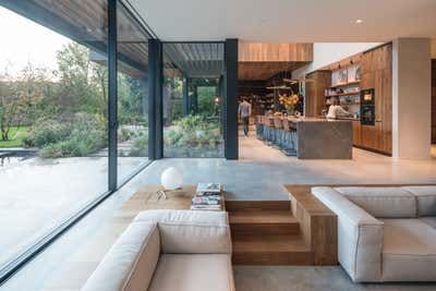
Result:
M311 62L313 44L261 44L239 41L240 62Z

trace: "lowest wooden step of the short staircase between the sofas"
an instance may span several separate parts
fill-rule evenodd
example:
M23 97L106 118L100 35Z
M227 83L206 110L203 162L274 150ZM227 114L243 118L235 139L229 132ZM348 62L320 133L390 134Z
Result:
M300 235L238 235L234 265L312 265L311 250Z

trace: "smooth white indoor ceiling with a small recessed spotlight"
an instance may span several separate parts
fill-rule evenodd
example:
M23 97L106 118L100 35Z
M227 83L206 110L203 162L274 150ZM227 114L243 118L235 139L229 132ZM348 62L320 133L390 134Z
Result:
M130 0L162 40L436 37L436 0ZM356 24L355 20L363 20Z

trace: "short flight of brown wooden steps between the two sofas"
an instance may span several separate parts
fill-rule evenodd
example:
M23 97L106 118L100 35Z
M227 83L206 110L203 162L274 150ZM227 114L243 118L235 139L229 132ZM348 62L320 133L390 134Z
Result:
M235 265L312 265L290 202L226 202Z

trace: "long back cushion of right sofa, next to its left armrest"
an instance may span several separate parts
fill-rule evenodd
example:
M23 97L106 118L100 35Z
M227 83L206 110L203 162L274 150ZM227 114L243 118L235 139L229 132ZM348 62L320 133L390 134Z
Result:
M352 203L359 205L374 217L415 218L416 199L400 187L335 187Z

